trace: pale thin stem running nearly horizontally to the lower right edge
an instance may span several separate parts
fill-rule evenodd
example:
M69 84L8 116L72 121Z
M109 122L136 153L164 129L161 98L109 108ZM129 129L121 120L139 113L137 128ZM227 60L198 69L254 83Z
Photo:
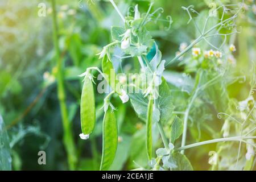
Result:
M177 148L177 151L182 151L182 150L186 150L188 148L202 146L204 144L210 144L210 143L227 142L227 141L240 142L241 140L244 140L244 139L256 139L256 137L228 137L228 138L218 138L218 139L213 139L213 140L206 140L204 142L197 142L197 143L193 143L193 144L188 144L187 146L184 146L184 147L179 147L179 148Z

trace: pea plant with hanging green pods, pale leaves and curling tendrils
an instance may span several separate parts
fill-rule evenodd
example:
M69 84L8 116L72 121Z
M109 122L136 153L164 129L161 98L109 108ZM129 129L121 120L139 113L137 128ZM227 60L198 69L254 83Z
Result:
M229 36L236 36L241 31L236 26L236 19L243 13L243 2L230 5L211 3L209 12L203 13L198 13L192 5L182 7L188 15L188 23L193 23L196 27L197 37L189 44L181 43L176 56L168 61L162 58L158 43L147 30L148 23L162 20L160 16L163 9L153 11L154 4L150 3L147 12L141 13L136 5L129 8L127 16L123 16L114 1L110 0L110 3L119 14L123 26L112 26L113 42L104 46L98 54L102 60L101 69L89 67L80 75L84 77L81 139L89 138L96 123L94 75L98 72L98 78L104 78L97 86L99 93L106 94L102 106L104 119L100 169L109 169L118 146L118 125L115 118L118 108L112 102L113 96L119 96L123 104L130 101L135 113L146 125L148 166L145 168L137 164L137 169L193 170L185 150L211 143L218 143L216 150L209 152L212 169L253 168L256 138L256 102L253 96L256 87L255 65L251 63L251 91L246 100L238 102L229 98L227 91L232 82L242 82L245 79L232 72L236 65L233 56L236 47L232 39L229 39ZM167 16L164 22L167 23L166 30L170 29L171 16ZM152 53L154 56L151 56ZM118 69L113 61L117 57L122 72L119 77L115 75ZM139 72L134 70L128 76L125 75L122 71L124 59L136 61L141 67ZM169 76L164 71L173 63L184 68L183 80L175 75ZM182 85L179 90L173 90L168 85L171 82L179 87L180 82L184 81L188 82L187 86ZM219 97L222 99L218 99ZM214 117L223 123L220 129L223 138L214 133L211 124L207 122L212 117L208 113L210 105L215 106L210 108L216 113ZM189 122L192 123L191 126ZM214 138L187 144L188 130L193 134L196 130L194 125L197 129L205 127ZM155 144L155 140L159 138L162 140L160 146ZM197 138L200 140L200 132ZM230 152L232 146L238 150Z

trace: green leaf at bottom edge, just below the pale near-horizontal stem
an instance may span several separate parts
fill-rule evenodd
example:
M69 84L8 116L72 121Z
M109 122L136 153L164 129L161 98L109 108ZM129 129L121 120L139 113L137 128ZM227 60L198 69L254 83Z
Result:
M172 159L174 159L177 166L173 169L174 171L193 171L193 167L188 158L185 155L180 154L180 152L174 152L172 154Z

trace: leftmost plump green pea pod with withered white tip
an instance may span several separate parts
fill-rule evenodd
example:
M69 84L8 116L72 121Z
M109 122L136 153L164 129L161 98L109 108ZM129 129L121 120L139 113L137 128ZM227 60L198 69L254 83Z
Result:
M83 134L90 134L96 122L94 89L89 74L85 76L81 96L81 127Z

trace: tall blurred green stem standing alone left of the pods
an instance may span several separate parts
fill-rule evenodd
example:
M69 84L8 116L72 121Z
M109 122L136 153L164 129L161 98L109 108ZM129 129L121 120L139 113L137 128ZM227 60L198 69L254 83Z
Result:
M71 122L68 119L68 110L65 103L65 88L64 88L64 76L63 76L63 62L60 57L60 48L59 48L59 30L57 26L56 18L56 3L55 0L52 2L52 21L53 21L53 42L55 48L55 59L57 64L57 95L60 104L61 118L63 122L63 133L64 133L64 147L68 155L68 165L71 170L76 169L77 155L75 143L72 135L72 126Z

